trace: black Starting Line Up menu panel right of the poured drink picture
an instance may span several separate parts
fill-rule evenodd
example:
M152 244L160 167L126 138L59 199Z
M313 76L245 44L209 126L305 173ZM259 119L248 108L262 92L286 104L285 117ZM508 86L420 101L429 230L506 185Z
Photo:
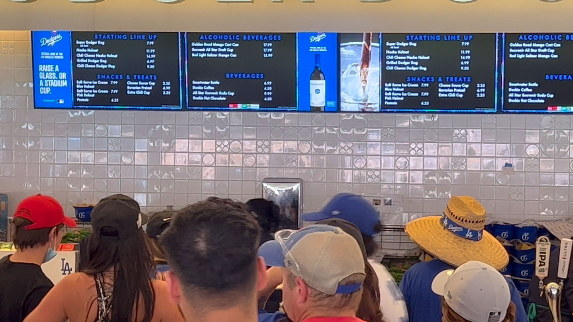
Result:
M382 111L497 111L496 34L383 34Z

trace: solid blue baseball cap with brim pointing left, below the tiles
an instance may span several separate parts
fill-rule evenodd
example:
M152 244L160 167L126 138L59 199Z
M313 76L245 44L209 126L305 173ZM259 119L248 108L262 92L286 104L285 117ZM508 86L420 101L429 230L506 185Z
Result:
M376 223L380 222L378 211L360 195L340 193L335 195L323 210L303 214L304 221L319 221L340 218L354 223L362 233L373 236Z

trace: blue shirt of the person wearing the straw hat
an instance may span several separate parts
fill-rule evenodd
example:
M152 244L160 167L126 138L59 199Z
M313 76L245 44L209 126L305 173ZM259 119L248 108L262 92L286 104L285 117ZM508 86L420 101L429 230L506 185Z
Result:
M406 270L400 288L406 301L410 322L442 321L442 299L432 292L431 282L439 272L446 269L455 269L455 267L440 260L431 260L415 264ZM509 284L511 301L517 308L516 322L528 322L515 284L511 278L505 277L505 280Z

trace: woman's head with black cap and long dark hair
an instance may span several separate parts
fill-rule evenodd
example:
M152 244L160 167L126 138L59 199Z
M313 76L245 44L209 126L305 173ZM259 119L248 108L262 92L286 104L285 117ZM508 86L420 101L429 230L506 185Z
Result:
M93 234L88 241L88 263L83 272L91 276L113 273L112 321L132 321L134 305L140 297L144 316L138 316L138 321L149 322L153 316L153 257L142 229L146 222L139 204L125 195L103 198L93 207Z

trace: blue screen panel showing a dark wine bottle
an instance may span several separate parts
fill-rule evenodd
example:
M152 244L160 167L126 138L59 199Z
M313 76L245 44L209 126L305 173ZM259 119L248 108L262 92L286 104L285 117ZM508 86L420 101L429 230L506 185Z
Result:
M338 34L299 33L299 111L336 112Z

